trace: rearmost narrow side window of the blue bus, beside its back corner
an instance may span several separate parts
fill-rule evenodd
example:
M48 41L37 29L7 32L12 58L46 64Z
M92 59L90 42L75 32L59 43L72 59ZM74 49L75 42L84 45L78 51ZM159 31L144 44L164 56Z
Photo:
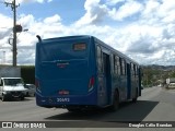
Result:
M96 56L96 60L97 60L97 71L98 73L103 73L103 61L102 61L102 49L100 46L97 46L97 56Z

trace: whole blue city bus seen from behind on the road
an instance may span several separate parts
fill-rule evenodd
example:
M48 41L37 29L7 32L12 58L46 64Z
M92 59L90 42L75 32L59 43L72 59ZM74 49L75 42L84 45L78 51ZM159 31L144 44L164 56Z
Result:
M94 36L42 39L36 44L36 104L40 107L117 110L141 96L141 67Z

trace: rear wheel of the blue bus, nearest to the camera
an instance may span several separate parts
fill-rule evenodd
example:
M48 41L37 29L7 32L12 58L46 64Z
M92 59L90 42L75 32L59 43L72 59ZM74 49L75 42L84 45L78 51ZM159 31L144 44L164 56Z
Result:
M114 99L113 99L113 105L110 106L110 110L116 111L118 108L119 108L119 96L118 96L118 93L115 92Z

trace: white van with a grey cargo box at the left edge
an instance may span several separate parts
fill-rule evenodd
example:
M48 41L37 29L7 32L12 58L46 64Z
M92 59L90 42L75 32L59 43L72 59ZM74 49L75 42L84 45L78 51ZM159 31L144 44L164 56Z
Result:
M24 87L19 67L0 67L0 98L10 100L12 98L24 99L27 88Z

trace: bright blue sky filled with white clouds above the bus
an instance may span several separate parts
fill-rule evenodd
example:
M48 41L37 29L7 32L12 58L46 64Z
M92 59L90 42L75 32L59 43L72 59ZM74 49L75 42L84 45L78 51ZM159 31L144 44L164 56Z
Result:
M0 0L0 63L12 62L13 13ZM42 38L93 35L140 64L175 64L175 0L16 0L18 64L34 64Z

